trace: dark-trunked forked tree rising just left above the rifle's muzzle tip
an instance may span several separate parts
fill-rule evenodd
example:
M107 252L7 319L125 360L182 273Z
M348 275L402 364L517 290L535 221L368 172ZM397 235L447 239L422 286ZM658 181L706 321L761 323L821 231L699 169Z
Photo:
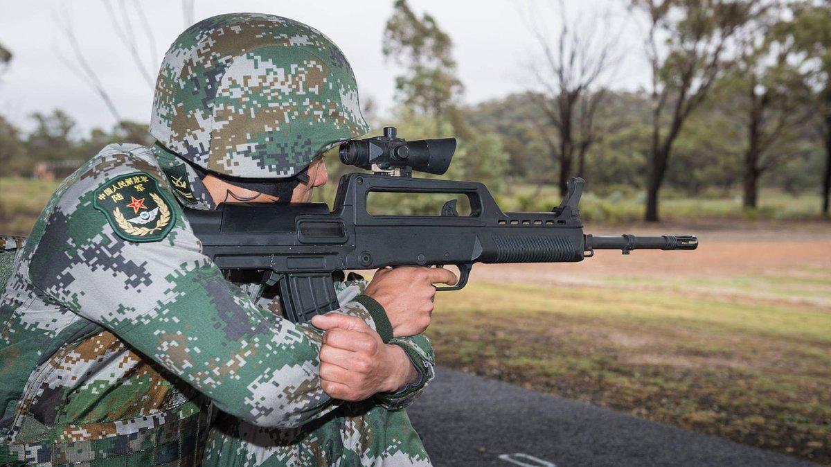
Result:
M647 221L658 220L658 192L681 127L729 68L726 60L758 0L632 0L646 13L652 82L652 144L647 175Z

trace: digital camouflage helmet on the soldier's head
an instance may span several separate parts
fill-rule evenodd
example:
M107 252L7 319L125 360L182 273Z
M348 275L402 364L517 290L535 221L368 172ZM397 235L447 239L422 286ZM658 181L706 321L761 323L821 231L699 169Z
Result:
M334 42L285 17L209 17L162 61L150 134L222 175L281 179L365 134L352 66Z

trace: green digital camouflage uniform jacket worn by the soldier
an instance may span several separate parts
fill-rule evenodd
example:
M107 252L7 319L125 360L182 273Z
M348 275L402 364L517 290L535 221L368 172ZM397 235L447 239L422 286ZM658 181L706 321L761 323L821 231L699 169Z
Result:
M107 146L52 195L0 299L0 465L191 465L216 409L288 429L340 406L318 381L322 332L227 281L180 203L214 208L189 167L138 145ZM361 297L338 312L376 328ZM376 396L391 409L433 365L423 337L396 344L421 377Z

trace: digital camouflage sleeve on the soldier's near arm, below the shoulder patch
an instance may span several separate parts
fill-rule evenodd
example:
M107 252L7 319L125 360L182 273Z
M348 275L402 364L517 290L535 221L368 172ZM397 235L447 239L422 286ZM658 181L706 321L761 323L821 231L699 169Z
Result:
M165 366L221 410L253 425L297 426L332 410L317 376L322 333L274 317L225 281L200 253L178 204L158 189L165 179L152 165L113 157L115 163L81 175L47 207L46 221L33 231L39 242L29 268L32 283ZM100 195L96 187L112 184L125 170L150 179L140 194L123 190L127 195L120 203L135 207L144 199L142 212L160 209L135 227L123 222L134 214L132 208L120 209L114 222L93 205ZM85 179L95 183L82 183ZM165 223L171 227L158 240L124 238L155 234L147 232ZM354 298L339 311L375 327Z

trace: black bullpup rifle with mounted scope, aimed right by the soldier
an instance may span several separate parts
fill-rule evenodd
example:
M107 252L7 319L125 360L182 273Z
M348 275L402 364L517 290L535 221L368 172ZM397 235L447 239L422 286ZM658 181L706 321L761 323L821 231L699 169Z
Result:
M373 174L343 175L335 204L220 204L215 211L188 209L186 217L203 253L224 270L261 272L263 283L278 285L283 309L293 322L340 305L333 274L349 269L453 264L460 290L474 263L567 263L591 258L594 250L693 250L693 235L598 237L583 234L578 204L584 180L568 180L568 192L551 212L505 213L484 184L413 178L412 171L441 175L450 167L455 138L398 138L394 127L383 136L348 140L340 147L346 165ZM460 215L450 199L440 215L371 215L371 192L465 195L470 214Z

